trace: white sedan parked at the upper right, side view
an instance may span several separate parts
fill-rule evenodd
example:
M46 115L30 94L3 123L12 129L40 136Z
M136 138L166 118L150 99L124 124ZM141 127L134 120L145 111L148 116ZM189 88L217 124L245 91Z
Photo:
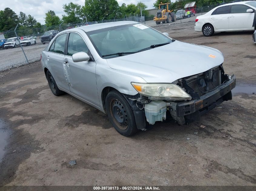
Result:
M214 32L256 30L256 2L220 5L195 20L195 31L210 37Z

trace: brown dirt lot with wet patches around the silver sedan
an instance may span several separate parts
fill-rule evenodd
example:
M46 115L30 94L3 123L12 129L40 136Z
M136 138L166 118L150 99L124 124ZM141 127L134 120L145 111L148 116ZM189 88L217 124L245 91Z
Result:
M39 63L1 72L0 132L8 137L0 185L256 185L252 33L204 37L193 25L180 28L158 29L221 50L241 93L198 122L157 123L124 137L95 108L68 94L55 97Z

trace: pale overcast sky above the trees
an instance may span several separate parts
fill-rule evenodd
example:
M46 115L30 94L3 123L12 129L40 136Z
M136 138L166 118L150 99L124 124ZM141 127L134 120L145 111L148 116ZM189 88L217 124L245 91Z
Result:
M26 15L31 14L35 19L41 24L45 24L45 13L48 10L55 11L55 14L62 18L64 14L62 5L69 2L78 3L79 5L84 5L85 0L1 0L1 9L6 7L11 8L16 14L20 11L24 12ZM117 0L119 5L125 3L126 5L130 3L137 4L138 0ZM153 8L153 3L155 0L141 0L145 3L148 8Z

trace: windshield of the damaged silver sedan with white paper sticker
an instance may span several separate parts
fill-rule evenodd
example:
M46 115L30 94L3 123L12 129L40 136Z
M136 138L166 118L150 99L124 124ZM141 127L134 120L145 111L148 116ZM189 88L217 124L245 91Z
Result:
M164 34L143 24L127 24L86 32L95 49L104 58L109 54L135 53L171 43ZM156 46L155 46L156 45ZM123 56L114 55L112 57Z

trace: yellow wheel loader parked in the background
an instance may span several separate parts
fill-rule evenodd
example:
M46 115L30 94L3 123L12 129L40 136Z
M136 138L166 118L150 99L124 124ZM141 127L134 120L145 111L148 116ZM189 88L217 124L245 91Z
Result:
M173 10L170 10L171 3L159 4L159 10L154 17L154 21L156 24L162 23L170 23L171 21L176 21L176 15Z

